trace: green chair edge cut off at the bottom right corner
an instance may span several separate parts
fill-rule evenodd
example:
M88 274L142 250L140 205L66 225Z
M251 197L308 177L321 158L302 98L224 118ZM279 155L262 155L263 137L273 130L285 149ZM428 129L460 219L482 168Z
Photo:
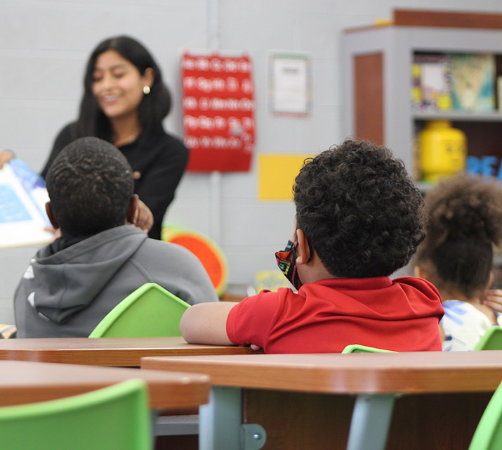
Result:
M502 449L502 383L484 410L469 446L469 450L499 449Z

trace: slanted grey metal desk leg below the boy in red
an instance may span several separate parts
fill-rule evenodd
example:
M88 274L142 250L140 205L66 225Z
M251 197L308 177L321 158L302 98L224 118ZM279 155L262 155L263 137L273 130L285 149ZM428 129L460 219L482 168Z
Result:
M352 412L347 450L383 450L392 418L394 395L358 395Z

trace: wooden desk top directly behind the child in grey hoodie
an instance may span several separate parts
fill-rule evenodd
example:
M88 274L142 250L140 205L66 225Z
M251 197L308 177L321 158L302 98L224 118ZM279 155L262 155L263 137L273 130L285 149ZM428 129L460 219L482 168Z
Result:
M0 340L0 360L139 367L142 356L251 354L250 347L192 345L175 338L52 338Z

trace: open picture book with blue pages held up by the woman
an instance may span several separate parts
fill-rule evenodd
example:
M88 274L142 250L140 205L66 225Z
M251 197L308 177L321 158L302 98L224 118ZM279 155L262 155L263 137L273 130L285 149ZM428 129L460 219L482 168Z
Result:
M0 248L47 243L53 234L44 179L22 160L0 170Z

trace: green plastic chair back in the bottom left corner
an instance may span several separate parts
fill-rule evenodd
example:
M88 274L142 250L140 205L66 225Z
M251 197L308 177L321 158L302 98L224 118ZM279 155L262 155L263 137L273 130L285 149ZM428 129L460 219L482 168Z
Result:
M0 408L8 450L151 450L143 380L128 380L65 399Z

